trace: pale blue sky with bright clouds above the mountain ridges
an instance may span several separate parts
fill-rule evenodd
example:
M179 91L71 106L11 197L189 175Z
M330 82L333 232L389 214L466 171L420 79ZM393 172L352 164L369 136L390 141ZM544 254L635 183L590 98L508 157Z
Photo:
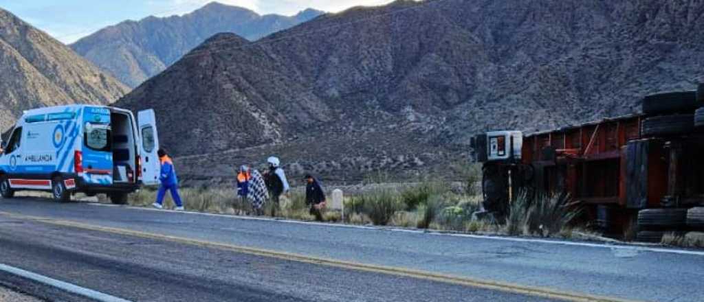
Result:
M0 0L0 8L30 22L65 44L124 20L195 11L212 0ZM391 0L218 0L260 14L295 15L306 8L337 13L352 6L378 6Z

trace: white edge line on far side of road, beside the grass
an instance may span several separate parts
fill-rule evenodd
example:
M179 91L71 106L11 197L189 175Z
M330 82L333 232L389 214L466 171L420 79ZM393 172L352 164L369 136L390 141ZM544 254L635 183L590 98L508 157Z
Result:
M99 206L117 206L113 204L94 204ZM128 209L137 209L141 211L158 211L164 212L164 210L144 208L139 206L120 206ZM494 236L494 235L473 235L473 234L457 234L448 232L435 232L433 230L412 230L407 228L392 228L392 227L377 227L377 226L365 226L365 225L346 225L339 223L317 223L309 221L292 221L287 219L273 219L273 218L260 218L260 217L248 217L248 216L234 216L234 215L223 215L223 214L211 214L211 213L200 213L200 212L172 212L177 214L187 214L187 215L199 215L199 216L215 216L230 219L239 220L249 220L249 221L269 221L269 222L279 222L279 223L292 223L301 225L317 225L317 226L330 226L335 228L355 228L363 230L389 230L395 232L410 232L414 234L425 234L425 235L436 235L436 236L449 236L449 237L465 237L473 239L486 239L486 240L500 240L508 242L532 242L540 244L557 244L566 245L572 247L594 247L603 249L624 249L631 251L650 251L654 253L665 253L665 254L681 254L681 255L691 255L691 256L704 256L704 251L692 251L687 249L669 249L669 248L658 248L658 247L643 247L636 244L630 244L628 242L619 242L612 244L603 243L590 243L590 242L573 242L558 239L536 239L536 238L520 238L520 237L504 237L504 236Z

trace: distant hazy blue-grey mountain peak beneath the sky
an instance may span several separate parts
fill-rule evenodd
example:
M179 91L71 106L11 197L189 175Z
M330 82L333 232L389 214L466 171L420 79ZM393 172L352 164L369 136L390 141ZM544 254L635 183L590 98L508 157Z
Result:
M253 41L321 14L307 9L291 17L258 15L246 8L211 2L183 16L121 22L80 39L71 48L136 87L213 34L234 32Z

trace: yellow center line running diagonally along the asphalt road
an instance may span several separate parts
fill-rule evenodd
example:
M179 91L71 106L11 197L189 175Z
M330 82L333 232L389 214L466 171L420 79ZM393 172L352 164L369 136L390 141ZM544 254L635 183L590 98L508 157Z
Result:
M127 230L122 228L110 228L99 225L89 225L87 223L79 223L75 221L65 221L61 219L38 217L38 216L26 216L21 214L13 214L0 211L0 215L8 216L10 218L24 219L29 221L37 221L39 223L46 223L50 225L58 225L70 228L80 228L82 230L95 230L100 232L108 232L116 235L127 235L134 237L142 237L146 239L156 239L168 242L175 242L180 244L195 245L198 247L208 247L213 249L221 249L225 251L234 251L243 254L250 254L255 256L264 256L269 258L277 258L286 261L296 261L302 263L311 263L318 265L327 265L335 268L344 268L349 270L361 270L370 273L382 273L386 275L395 275L401 277L412 277L420 280L429 280L434 282L444 282L449 284L459 284L467 287L477 287L481 289L490 289L496 291L503 291L513 294L524 294L529 296L539 296L544 298L553 298L564 301L574 301L574 302L638 302L636 300L628 300L622 298L612 298L608 296L595 296L590 294L581 294L571 291L561 291L558 289L549 289L546 287L529 287L520 284L513 284L508 282L496 282L492 280L482 280L478 278L460 277L454 275L444 275L439 273L430 273L422 270L412 270L408 268L396 268L385 265L373 265L366 263L356 263L352 261L341 261L331 258L321 258L315 256L306 256L301 254L292 254L284 251L272 251L268 249L256 249L252 247L240 247L234 244L225 244L220 242L209 242L200 239L189 239L184 237L175 237L170 235L161 235L151 232L142 232L137 230Z

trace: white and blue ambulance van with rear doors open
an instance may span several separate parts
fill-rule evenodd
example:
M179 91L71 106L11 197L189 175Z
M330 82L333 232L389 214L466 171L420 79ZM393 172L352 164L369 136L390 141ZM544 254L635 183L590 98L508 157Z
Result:
M25 111L0 154L0 195L51 192L67 202L82 192L125 204L127 194L158 182L153 110L66 105Z

